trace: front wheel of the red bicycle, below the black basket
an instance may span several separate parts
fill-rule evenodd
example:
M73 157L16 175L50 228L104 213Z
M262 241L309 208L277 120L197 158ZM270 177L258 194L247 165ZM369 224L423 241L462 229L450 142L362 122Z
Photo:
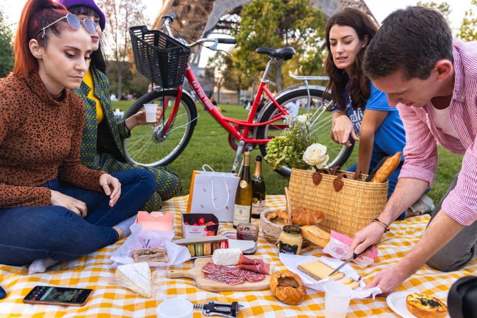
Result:
M153 90L128 109L125 118L143 110L144 104L158 104L161 111L159 124L136 126L131 130L131 137L123 140L124 154L129 162L144 166L164 166L184 151L197 123L197 109L192 99L182 94L177 112L171 117L176 95L175 89L159 92Z

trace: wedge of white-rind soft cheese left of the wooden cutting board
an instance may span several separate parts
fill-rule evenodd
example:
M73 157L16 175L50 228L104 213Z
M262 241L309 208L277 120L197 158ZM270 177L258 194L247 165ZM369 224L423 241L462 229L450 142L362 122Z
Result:
M153 284L148 263L132 263L119 265L114 274L116 279L142 297L152 297Z

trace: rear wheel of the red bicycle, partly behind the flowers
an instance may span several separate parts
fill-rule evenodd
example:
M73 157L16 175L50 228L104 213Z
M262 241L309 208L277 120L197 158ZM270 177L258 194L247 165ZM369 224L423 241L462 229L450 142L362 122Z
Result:
M318 143L327 147L326 153L329 156L329 167L334 167L336 165L342 166L353 152L354 140L350 140L351 147L349 148L335 144L331 140L330 131L332 113L326 110L326 106L331 103L331 96L328 94L327 98L323 100L323 93L324 91L319 88L310 89L311 101L309 113L312 114L312 117L309 119L310 134L316 138ZM303 107L300 107L299 114L305 114L307 112L305 107L308 103L308 91L306 88L291 91L290 93L279 97L277 102L282 107L290 102L298 102L303 105ZM280 110L274 104L270 104L264 110L264 113L260 118L260 122L267 122L279 113ZM284 125L283 120L278 120L268 125L259 126L257 138L272 139L273 137L280 135L285 127L286 126ZM262 156L266 155L266 148L267 144L260 145L260 152L262 153ZM283 166L275 171L284 176L289 176L291 173L291 169L286 166Z

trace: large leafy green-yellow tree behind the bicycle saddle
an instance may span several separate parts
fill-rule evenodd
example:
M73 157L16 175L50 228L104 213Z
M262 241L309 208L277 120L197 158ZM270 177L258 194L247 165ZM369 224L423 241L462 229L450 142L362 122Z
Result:
M241 21L232 34L239 45L239 70L245 76L251 77L265 69L268 57L254 53L258 47L293 46L298 53L294 59L308 52L311 64L322 64L326 21L308 0L253 0L243 6L240 16ZM278 90L282 89L282 62L275 63L272 74Z

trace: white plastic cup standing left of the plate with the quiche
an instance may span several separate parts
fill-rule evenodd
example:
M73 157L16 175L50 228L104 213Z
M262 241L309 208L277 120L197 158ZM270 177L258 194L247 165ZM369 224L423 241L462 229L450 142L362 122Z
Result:
M353 290L341 283L324 285L324 317L345 318Z

